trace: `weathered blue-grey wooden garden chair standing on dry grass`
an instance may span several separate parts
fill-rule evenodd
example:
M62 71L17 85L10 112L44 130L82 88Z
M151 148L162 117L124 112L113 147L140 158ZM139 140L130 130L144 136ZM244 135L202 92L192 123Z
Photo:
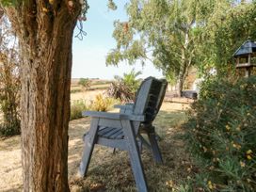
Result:
M136 102L129 113L83 112L83 116L91 117L91 122L88 134L85 135L84 139L85 146L79 168L80 175L86 176L87 174L95 144L118 148L129 152L138 191L148 191L136 136L139 136L140 130L152 129L152 125L150 127L147 125L152 124L152 120L160 108L159 96L162 86L163 81L161 80L153 77L145 79L138 89ZM152 131L154 133L154 129L148 131L148 133L151 134ZM152 136L150 140L153 140L151 141L152 149L158 149L155 136Z

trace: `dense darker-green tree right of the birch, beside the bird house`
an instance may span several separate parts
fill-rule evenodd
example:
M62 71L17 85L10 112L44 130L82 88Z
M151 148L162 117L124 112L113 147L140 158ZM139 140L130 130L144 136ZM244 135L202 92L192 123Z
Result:
M248 39L256 40L256 3L224 1L217 4L204 26L198 59L200 73L216 68L219 75L234 72L233 53Z

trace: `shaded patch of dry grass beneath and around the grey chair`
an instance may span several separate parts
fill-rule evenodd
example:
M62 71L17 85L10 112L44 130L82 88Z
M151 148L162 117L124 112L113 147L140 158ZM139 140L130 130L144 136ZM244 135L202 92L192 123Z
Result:
M184 111L160 111L154 120L156 132L161 137L159 146L164 164L155 164L152 153L143 150L141 157L150 191L175 189L190 175L190 160L184 150L184 132L180 128L186 118ZM127 152L113 154L113 149L96 145L88 176L79 178L76 175L83 151L82 136L88 127L89 119L71 123L69 177L72 191L136 191Z

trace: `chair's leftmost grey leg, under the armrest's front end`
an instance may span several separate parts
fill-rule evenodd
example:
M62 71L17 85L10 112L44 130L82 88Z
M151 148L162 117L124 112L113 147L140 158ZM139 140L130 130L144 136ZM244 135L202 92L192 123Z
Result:
M90 161L91 154L96 141L96 136L98 131L98 122L99 122L99 119L91 120L88 136L85 138L83 156L80 163L80 168L78 170L78 173L82 177L85 177L88 172L89 161Z

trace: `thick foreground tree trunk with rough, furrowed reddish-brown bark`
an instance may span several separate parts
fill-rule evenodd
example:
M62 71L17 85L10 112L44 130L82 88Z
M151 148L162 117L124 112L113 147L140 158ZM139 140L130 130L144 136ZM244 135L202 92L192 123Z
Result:
M78 0L26 0L6 8L22 52L24 191L69 191L72 33Z

